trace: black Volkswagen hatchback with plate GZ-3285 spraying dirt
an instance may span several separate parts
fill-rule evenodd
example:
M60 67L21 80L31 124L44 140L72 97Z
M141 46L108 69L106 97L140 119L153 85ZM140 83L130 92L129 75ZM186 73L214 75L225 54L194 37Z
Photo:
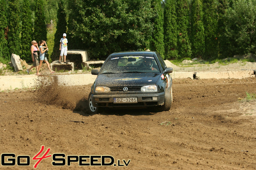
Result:
M108 56L91 87L89 111L102 108L155 107L168 111L172 105L172 68L158 52L127 51Z

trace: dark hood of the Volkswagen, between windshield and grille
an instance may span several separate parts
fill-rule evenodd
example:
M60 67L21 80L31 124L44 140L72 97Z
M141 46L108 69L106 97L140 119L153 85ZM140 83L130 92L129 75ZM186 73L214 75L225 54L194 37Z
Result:
M99 74L96 86L142 86L156 84L160 73L125 73L125 74Z

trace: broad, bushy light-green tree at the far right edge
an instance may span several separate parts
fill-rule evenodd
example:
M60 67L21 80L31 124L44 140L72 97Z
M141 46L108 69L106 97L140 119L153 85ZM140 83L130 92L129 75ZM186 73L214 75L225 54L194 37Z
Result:
M225 14L230 54L256 51L256 0L237 0Z

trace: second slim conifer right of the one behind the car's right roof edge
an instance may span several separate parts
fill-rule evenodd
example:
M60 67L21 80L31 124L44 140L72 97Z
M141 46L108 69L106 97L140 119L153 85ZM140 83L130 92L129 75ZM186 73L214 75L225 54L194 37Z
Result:
M187 0L177 0L177 49L178 58L191 57L189 40L189 4Z

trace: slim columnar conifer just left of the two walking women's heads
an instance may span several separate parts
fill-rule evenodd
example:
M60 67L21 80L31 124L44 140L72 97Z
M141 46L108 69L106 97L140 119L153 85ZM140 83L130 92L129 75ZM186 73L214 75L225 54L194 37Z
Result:
M33 40L33 23L31 17L30 3L29 0L23 0L23 6L21 8L21 54L20 58L26 61L32 61L30 42Z

